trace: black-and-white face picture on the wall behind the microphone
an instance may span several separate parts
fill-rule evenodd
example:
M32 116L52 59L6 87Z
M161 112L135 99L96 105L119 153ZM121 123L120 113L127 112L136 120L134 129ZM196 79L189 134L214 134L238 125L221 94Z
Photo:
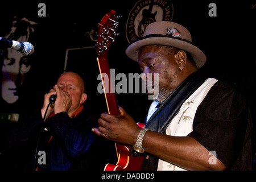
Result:
M16 40L18 42L29 42L31 35L35 32L35 26L38 23L33 22L26 17L18 18L14 16L9 30L4 38ZM15 105L19 102L26 73L31 69L28 56L22 55L15 49L3 49L1 56L1 109L7 113L15 110ZM7 107L3 107L3 106ZM13 110L8 110L13 107Z

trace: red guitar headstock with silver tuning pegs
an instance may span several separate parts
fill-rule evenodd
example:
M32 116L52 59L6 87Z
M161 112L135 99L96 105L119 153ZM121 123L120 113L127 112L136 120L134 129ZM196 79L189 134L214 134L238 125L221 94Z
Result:
M97 43L97 54L98 56L106 56L110 44L115 40L115 36L119 35L115 32L119 23L117 20L121 16L115 16L115 11L111 10L107 13L98 24L98 43Z

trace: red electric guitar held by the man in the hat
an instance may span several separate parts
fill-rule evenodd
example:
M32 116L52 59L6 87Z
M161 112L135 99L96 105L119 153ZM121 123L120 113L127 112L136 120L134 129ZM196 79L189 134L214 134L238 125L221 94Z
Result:
M119 115L119 108L117 97L115 96L114 85L110 77L110 67L108 62L108 50L110 45L114 42L115 29L118 27L115 11L112 10L107 13L98 24L98 43L97 43L97 61L98 67L101 73L102 85L104 88L106 104L108 106L108 112L112 115ZM108 79L106 79L108 78ZM143 127L143 123L138 124ZM131 146L124 146L122 144L115 143L117 150L117 164L106 164L105 171L138 171L141 168L143 161L142 156L134 157L131 155Z

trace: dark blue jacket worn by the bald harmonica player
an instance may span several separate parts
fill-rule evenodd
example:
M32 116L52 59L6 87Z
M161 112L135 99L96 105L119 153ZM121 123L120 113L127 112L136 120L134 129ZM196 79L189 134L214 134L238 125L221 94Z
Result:
M90 147L97 140L97 135L92 132L92 127L97 127L97 119L98 117L88 118L88 114L81 111L75 118L70 118L63 112L43 122L38 111L29 119L19 121L19 126L8 137L8 148L3 154L6 169L85 169L84 167L88 166L86 163L91 159ZM43 157L39 155L39 151L46 153L46 164L38 163L38 158Z

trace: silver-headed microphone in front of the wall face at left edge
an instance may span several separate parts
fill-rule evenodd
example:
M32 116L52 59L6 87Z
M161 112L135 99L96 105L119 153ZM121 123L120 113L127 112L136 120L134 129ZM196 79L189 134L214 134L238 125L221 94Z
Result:
M11 39L0 37L1 48L12 48L21 52L24 56L30 56L34 52L34 46L29 42L18 42Z

